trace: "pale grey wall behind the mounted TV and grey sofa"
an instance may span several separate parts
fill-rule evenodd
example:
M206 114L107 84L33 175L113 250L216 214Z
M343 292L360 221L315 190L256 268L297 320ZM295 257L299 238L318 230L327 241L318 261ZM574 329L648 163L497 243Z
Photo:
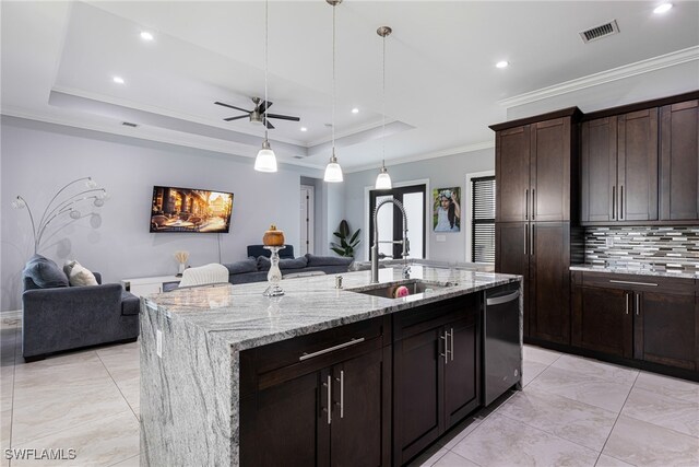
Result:
M149 233L154 185L235 194L230 232L221 234L221 260L230 262L246 257L247 245L261 243L271 223L298 248L300 176L322 177L320 171L284 164L276 174L262 174L253 171L250 157L12 117L2 117L1 130L1 311L21 307L22 269L33 254L27 212L11 207L16 195L38 218L56 191L74 178L92 176L104 186L111 198L93 209L98 215L45 238L39 253L59 265L78 259L102 272L105 282L117 282L176 273L173 254L180 249L190 253L190 266L218 262L218 234ZM332 205L334 194L320 196L327 209L344 210L342 203Z

